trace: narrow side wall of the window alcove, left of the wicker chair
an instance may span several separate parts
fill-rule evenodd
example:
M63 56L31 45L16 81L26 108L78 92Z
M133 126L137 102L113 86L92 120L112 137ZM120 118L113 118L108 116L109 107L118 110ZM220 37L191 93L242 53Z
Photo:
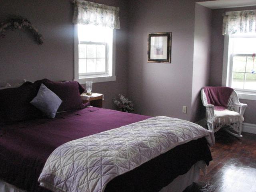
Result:
M198 122L205 117L205 107L202 105L200 93L210 82L211 20L212 10L196 4L190 118L192 122Z

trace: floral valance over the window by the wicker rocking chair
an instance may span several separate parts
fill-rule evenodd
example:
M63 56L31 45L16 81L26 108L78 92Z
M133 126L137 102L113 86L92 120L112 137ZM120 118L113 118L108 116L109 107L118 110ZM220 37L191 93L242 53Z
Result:
M256 10L226 12L223 18L223 35L256 33Z

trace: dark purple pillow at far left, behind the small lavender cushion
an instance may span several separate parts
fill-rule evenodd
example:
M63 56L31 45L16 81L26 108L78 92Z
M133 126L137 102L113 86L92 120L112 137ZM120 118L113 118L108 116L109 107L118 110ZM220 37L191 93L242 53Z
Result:
M37 90L31 82L25 82L17 88L0 90L0 122L15 122L42 116L42 112L30 104L36 94Z

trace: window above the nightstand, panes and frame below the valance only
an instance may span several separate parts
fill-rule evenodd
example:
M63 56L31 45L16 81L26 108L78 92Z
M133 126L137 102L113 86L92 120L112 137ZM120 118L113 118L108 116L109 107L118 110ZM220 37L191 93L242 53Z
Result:
M75 79L104 82L115 80L114 29L76 24Z

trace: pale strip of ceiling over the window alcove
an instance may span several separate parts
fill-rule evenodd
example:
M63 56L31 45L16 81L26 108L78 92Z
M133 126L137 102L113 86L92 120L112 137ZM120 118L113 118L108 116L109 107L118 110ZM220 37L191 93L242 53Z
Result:
M198 2L198 4L210 9L223 9L233 7L256 6L256 0L215 0Z

